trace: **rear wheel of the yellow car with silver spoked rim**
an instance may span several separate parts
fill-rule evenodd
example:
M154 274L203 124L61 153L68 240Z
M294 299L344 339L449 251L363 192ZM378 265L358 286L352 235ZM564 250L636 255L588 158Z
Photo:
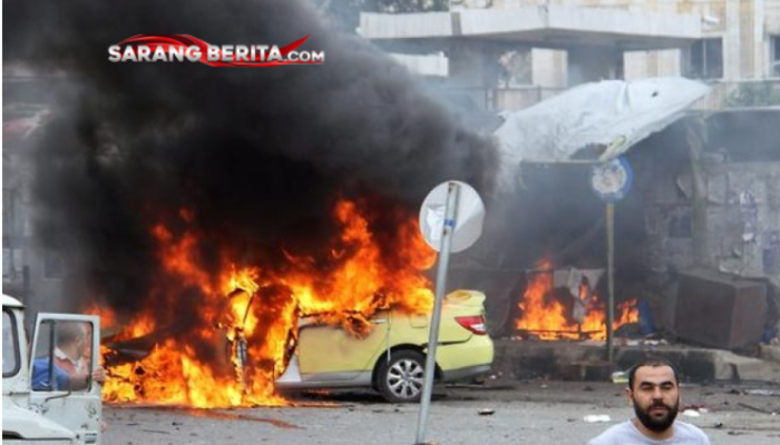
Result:
M417 350L391 353L382 363L377 376L377 386L391 403L419 402L426 374L426 358Z

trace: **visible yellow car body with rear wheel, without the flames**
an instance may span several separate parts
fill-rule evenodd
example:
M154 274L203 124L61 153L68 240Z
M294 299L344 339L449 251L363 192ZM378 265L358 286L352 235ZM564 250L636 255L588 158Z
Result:
M475 378L490 370L493 340L485 323L485 295L457 290L445 298L436 382ZM333 326L318 315L299 319L294 350L281 389L370 387L388 402L420 399L423 386L429 314L381 310L354 318L360 334Z

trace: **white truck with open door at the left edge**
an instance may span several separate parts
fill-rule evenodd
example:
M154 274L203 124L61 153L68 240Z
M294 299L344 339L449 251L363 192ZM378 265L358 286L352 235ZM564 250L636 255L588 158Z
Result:
M1 316L2 444L99 445L99 318L38 314L30 349L21 301L3 294Z

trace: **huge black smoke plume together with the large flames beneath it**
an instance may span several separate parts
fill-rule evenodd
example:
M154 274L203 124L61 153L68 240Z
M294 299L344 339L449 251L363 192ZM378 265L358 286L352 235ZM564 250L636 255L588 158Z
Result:
M296 316L428 309L435 256L417 202L445 179L491 189L489 142L304 1L3 1L2 17L3 66L68 72L31 141L36 226L71 265L70 294L113 333L107 400L283 404L272 383ZM107 61L109 46L150 32L310 36L328 62Z

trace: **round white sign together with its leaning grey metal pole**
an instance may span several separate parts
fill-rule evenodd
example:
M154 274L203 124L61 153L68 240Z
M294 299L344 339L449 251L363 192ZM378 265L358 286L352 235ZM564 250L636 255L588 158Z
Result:
M431 314L426 372L420 396L420 415L417 422L415 444L425 444L428 409L433 392L436 348L439 343L441 306L447 290L449 254L465 250L481 235L485 206L477 191L468 184L447 181L431 190L420 209L420 229L426 243L439 253L436 270L436 297Z

